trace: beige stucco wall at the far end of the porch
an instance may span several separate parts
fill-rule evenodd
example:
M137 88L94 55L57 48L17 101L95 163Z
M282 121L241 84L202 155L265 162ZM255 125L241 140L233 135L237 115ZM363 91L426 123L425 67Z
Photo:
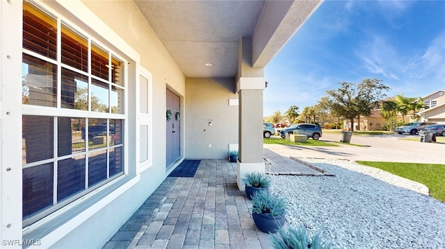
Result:
M186 158L227 159L229 144L238 144L238 106L229 105L235 85L234 78L186 78Z

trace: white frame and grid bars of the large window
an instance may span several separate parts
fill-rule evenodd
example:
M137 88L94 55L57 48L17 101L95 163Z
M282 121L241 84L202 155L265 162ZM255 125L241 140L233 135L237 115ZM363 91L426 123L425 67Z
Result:
M115 51L113 49L111 49L110 47L106 46L105 44L103 44L101 42L101 40L105 40L104 37L99 36L97 37L97 35L90 35L90 33L84 31L81 27L75 25L73 22L71 22L70 19L65 18L63 15L60 15L60 13L54 11L53 9L51 9L49 6L42 6L42 4L38 4L35 3L33 1L30 1L29 4L35 6L35 8L38 8L38 10L46 13L47 15L50 15L51 17L56 18L57 20L57 59L56 61L52 60L51 58L47 58L44 55L40 55L39 53L35 53L34 51L30 51L29 49L24 49L22 48L22 56L23 55L30 55L33 58L38 58L40 60L44 60L46 62L51 62L54 63L57 67L57 95L56 95L56 107L47 107L47 106L42 106L42 105L29 105L29 104L22 104L22 117L27 116L27 115L33 115L33 116L46 116L46 117L52 117L54 119L54 156L51 159L48 160L41 160L38 162L32 162L30 164L22 164L22 168L27 168L27 167L31 167L31 166L36 166L36 165L42 165L44 163L47 162L52 162L53 165L53 169L57 169L58 168L58 161L61 160L65 160L69 157L72 157L74 155L85 155L86 157L86 169L88 171L88 154L94 152L94 151L102 151L102 150L106 150L106 157L107 157L107 179L106 180L102 180L100 182L100 184L94 184L92 185L92 187L88 187L86 189L84 189L83 191L79 192L78 194L74 194L72 196L69 196L63 200L60 200L60 202L58 202L56 205L53 205L51 207L47 207L46 209L42 209L38 212L35 212L32 216L30 216L29 218L26 219L22 219L22 225L23 225L23 229L27 230L29 227L33 227L34 223L38 223L40 222L40 220L43 220L44 217L46 216L54 216L60 212L64 212L66 208L69 208L71 206L74 206L76 203L81 202L81 199L83 199L82 197L86 197L86 196L90 196L90 194L94 194L94 192L97 192L97 189L106 189L106 187L111 186L112 182L117 182L122 180L122 178L125 178L127 175L129 175L129 169L128 169L128 155L127 155L127 151L128 151L128 143L127 143L127 137L128 137L128 123L129 123L129 118L128 118L128 96L129 96L129 87L128 87L128 81L129 81L129 68L128 68L128 64L129 64L129 60L126 60L124 57L128 56L127 54L125 54L122 51ZM88 37L88 49L90 51L91 49L91 45L92 42L94 42L94 44L96 44L97 46L100 46L102 49L106 49L106 51L108 51L108 58L109 60L113 60L113 58L118 59L122 62L122 69L121 69L121 73L123 74L123 77L121 76L120 80L122 80L121 84L119 85L117 83L113 83L112 79L109 78L107 83L108 83L108 112L92 112L91 111L91 105L90 105L90 101L89 105L88 105L88 111L85 110L75 110L75 109L68 109L68 108L63 108L62 107L62 100L61 100L61 74L62 74L62 70L61 69L68 69L71 71L74 71L76 73L80 73L84 76L87 76L88 78L90 78L90 80L88 80L88 84L91 85L91 79L98 79L98 77L92 76L90 69L88 70L88 73L86 74L84 71L81 71L79 69L76 69L74 67L70 67L69 65L65 65L62 63L61 60L61 32L62 32L62 26L68 26L72 29L74 29L74 31L79 32L81 35ZM90 52L88 52L88 60L90 61L91 55ZM124 56L122 56L124 55ZM90 67L90 66L89 66ZM111 72L112 70L110 70L110 72L108 74L112 74ZM23 72L22 72L23 74ZM99 78L99 80L104 81L103 79ZM120 106L120 108L122 108L122 114L118 113L111 113L111 91L112 91L112 87L118 87L119 89L122 89L124 94L122 96L123 100L122 100L122 106ZM90 88L90 87L89 87ZM90 89L88 90L88 92L90 93ZM88 98L90 99L90 97ZM124 139L122 140L121 144L118 145L111 145L107 142L106 147L102 147L102 148L88 148L88 146L86 146L86 151L84 151L83 153L72 153L70 155L63 155L63 156L59 156L57 153L57 149L58 149L58 130L57 130L57 120L58 117L71 117L71 118L83 118L86 119L86 123L88 123L88 119L90 118L95 118L95 119L107 119L107 120L122 120L122 135L124 136ZM107 126L109 127L109 125L107 124ZM88 143L87 143L88 144ZM119 173L117 175L113 175L113 176L109 176L109 152L111 148L122 148L122 173ZM54 175L57 174L57 171L54 172ZM54 189L57 189L57 178L53 179L54 182ZM54 196L56 196L56 201L57 201L57 194L56 192L53 193ZM65 206L68 206L65 208ZM28 228L27 228L28 227Z

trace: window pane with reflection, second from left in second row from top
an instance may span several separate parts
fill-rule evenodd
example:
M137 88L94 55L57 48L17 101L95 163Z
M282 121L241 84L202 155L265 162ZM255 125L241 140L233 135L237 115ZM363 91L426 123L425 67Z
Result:
M88 111L88 77L62 69L62 108Z

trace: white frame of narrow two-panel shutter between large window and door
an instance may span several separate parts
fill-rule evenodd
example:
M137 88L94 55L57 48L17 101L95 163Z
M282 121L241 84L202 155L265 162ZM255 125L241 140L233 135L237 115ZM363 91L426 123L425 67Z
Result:
M143 76L144 78L146 78L148 80L148 113L147 114L143 114L140 113L140 76ZM138 80L136 83L136 89L137 89L137 107L136 107L136 113L138 114L138 124L137 124L137 128L136 128L136 137L137 139L137 145L136 145L136 158L138 159L138 169L137 172L138 173L142 173L143 171L149 169L149 167L153 166L153 104L152 104L152 97L153 97L153 87L152 87L152 74L147 70L144 69L143 67L140 67L139 70L139 76L138 76ZM140 162L140 126L141 125L146 125L148 126L148 160L145 160L144 162Z

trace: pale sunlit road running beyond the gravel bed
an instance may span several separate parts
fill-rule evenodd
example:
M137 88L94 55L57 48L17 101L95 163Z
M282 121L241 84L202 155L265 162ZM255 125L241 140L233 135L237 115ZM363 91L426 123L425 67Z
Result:
M282 146L280 144L264 144L264 148L268 148L286 157L445 164L445 144L401 140L401 137L419 137L419 135L353 135L350 143L362 146L349 144L339 144L339 146ZM320 140L340 141L341 134L325 132Z

